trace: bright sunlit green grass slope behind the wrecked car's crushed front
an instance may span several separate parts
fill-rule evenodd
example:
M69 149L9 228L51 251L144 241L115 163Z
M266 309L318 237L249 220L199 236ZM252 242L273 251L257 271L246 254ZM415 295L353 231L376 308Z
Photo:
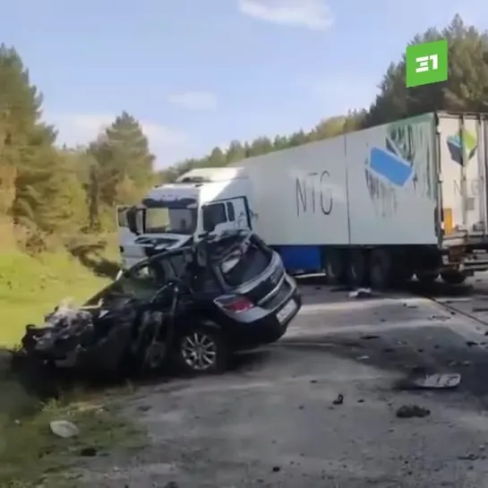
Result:
M64 298L76 302L109 282L98 278L68 253L32 258L20 252L0 255L0 347L17 344L28 323L42 323Z

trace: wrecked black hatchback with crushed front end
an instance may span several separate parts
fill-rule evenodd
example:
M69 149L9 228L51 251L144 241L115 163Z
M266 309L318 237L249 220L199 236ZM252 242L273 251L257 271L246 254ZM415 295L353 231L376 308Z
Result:
M22 347L56 366L219 372L235 351L281 338L300 307L278 253L226 232L141 261L79 309L61 304Z

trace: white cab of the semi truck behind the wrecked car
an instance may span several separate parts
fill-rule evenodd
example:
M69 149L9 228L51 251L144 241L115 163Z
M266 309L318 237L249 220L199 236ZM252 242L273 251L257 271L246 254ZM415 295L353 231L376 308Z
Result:
M244 168L198 168L152 188L136 206L118 207L123 268L210 232L252 230L251 190Z

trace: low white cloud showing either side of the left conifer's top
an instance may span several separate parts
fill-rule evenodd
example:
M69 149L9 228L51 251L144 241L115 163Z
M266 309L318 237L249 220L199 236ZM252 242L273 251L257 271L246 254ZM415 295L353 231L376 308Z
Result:
M68 145L85 144L96 139L98 133L112 124L116 116L107 114L47 114L47 122L55 124L58 140ZM151 146L176 147L183 145L186 134L166 125L141 121L142 131Z

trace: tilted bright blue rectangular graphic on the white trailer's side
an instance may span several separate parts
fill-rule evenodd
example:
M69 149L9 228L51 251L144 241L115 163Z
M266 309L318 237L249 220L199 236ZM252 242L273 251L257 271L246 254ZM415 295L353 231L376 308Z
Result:
M386 149L372 148L369 166L374 173L386 178L390 183L405 186L414 176L414 168L406 159L398 156L398 150L388 138L386 146Z

